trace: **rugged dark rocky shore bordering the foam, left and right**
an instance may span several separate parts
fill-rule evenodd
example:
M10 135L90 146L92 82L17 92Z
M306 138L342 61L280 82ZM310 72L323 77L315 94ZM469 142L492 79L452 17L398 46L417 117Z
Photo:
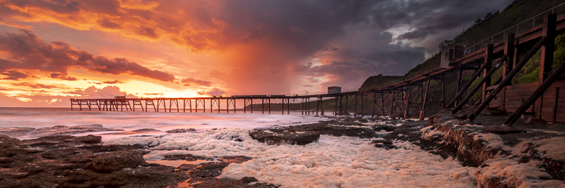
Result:
M420 146L443 158L477 167L475 178L482 187L565 187L565 132L563 125L528 125L516 129L496 127L505 113L487 111L475 122L465 120L465 112L440 112L427 121L400 118L340 117L310 125L257 128L251 138L268 144L306 145L321 135L370 139L375 149L397 149L403 141ZM32 134L25 128L12 129ZM49 127L69 132L105 132L102 125ZM558 130L552 130L558 129ZM160 132L160 130L140 130ZM37 130L35 130L37 132ZM196 130L169 130L182 134ZM165 132L163 132L165 133ZM199 133L203 134L203 133ZM239 140L238 140L239 139ZM231 138L242 142L241 138ZM218 178L230 163L251 160L248 156L165 156L166 161L185 161L177 167L148 163L143 156L151 144L108 145L100 136L73 137L54 133L36 139L14 139L0 135L1 187L278 187L258 182L255 177L241 180Z

